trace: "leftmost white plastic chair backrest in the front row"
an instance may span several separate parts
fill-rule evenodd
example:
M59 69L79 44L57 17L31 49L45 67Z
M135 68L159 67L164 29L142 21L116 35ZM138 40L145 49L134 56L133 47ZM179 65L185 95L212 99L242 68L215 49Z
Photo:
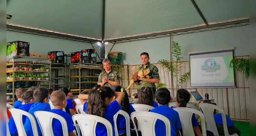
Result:
M26 131L24 129L24 125L22 122L22 116L25 115L27 118L29 118L33 130L34 136L38 136L38 131L37 131L37 124L35 118L28 112L25 112L21 109L16 109L16 108L10 108L9 111L12 114L13 120L15 122L15 125L17 127L18 135L19 136L27 136Z

